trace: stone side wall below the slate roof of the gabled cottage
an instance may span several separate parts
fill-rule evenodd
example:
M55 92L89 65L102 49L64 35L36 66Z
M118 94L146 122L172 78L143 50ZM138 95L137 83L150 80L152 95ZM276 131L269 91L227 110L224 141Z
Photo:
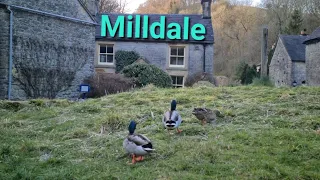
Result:
M306 63L305 62L293 62L292 63L292 80L296 81L297 85L300 86L303 82L306 82Z

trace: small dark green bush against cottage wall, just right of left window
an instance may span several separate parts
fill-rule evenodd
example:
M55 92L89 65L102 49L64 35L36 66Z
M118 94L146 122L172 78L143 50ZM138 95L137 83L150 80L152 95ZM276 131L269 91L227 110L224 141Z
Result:
M116 59L116 72L120 72L124 67L134 63L140 58L140 55L135 51L117 51Z

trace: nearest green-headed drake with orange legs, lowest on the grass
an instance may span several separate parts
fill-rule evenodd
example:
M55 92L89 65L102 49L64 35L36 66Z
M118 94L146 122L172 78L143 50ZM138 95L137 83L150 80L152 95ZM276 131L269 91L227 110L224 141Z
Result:
M142 134L135 134L137 123L131 121L129 124L129 134L123 141L123 148L125 151L132 156L132 164L136 161L142 161L144 155L154 151L151 141Z

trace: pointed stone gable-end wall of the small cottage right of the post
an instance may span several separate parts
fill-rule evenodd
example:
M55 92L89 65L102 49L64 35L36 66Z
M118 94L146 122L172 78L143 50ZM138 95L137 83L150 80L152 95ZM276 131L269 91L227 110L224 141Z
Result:
M269 67L270 79L277 87L291 86L291 70L292 61L281 39L279 38L278 45L273 54Z

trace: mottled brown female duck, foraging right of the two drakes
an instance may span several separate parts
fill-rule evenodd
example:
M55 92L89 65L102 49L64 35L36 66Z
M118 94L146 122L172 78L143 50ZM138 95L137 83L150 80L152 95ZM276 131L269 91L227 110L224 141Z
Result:
M194 108L192 114L202 122L202 125L204 125L206 123L215 123L217 115L220 116L220 111L212 111L208 108Z

